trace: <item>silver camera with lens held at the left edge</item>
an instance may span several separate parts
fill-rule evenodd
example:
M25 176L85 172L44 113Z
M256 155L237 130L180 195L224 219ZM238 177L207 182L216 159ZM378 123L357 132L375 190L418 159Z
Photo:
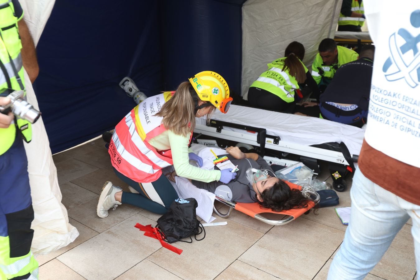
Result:
M0 94L0 97L9 97L10 102L7 105L0 106L0 113L7 115L12 112L17 117L35 123L41 112L34 109L34 106L24 100L25 91L7 89Z

